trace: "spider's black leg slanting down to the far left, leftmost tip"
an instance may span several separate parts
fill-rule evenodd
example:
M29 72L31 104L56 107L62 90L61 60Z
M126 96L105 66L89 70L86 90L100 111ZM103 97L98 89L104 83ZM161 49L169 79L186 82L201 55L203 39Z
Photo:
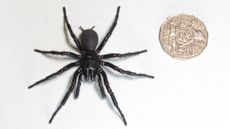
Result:
M64 73L64 72L67 71L68 69L70 69L70 68L72 68L72 67L74 67L74 66L77 66L77 65L79 65L78 62L70 63L70 64L66 65L65 67L63 67L62 69L58 70L57 72L55 72L55 73L53 73L53 74L50 74L49 76L47 76L47 77L45 77L45 78L43 78L43 79L41 79L41 80L35 82L34 84L30 85L30 86L28 87L28 89L33 88L34 86L36 86L36 85L38 85L38 84L40 84L40 83L42 83L42 82L44 82L44 81L47 81L47 80L49 80L49 79L51 79L51 78L54 78L54 77L56 77L56 76L58 76L58 75Z

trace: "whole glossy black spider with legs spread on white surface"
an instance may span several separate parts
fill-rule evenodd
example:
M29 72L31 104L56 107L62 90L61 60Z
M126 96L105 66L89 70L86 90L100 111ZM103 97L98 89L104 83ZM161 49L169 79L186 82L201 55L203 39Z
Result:
M57 75L62 74L63 72L67 71L70 68L78 66L77 70L75 71L75 73L73 75L71 85L70 85L66 95L64 96L63 100L61 101L61 103L58 106L58 108L56 109L56 111L53 113L52 117L49 120L49 123L52 122L52 120L55 117L55 115L57 114L57 112L66 103L67 99L69 98L70 94L73 92L74 89L75 89L74 97L78 98L79 91L80 91L80 85L81 85L81 81L82 81L82 76L84 76L84 79L86 81L95 80L95 78L97 76L98 86L99 86L102 97L103 98L106 97L104 87L102 84L102 80L103 80L104 86L106 87L106 90L109 93L114 106L117 108L118 112L120 113L120 116L121 116L124 124L127 125L125 117L124 117L123 113L121 112L121 109L118 106L118 103L117 103L117 100L113 94L113 91L109 86L109 81L107 79L107 75L106 75L105 71L101 68L101 66L106 66L108 68L112 68L113 70L118 71L122 74L127 74L127 75L132 75L132 76L143 76L143 77L149 77L149 78L154 78L154 77L151 75L147 75L147 74L141 74L141 73L138 74L138 73L134 73L131 71L123 70L123 69L121 69L121 68L119 68L119 67L117 67L117 66L115 66L109 62L103 61L103 59L108 59L108 58L115 58L115 57L122 58L122 57L133 56L133 55L137 55L137 54L141 54L143 52L146 52L147 50L129 52L129 53L125 53L125 54L119 54L119 53L111 53L111 54L105 54L105 55L99 55L98 54L102 50L102 48L105 46L106 42L108 41L114 28L117 25L119 11L120 11L120 6L118 6L118 8L117 8L117 13L116 13L114 22L113 22L109 32L104 37L101 44L97 47L98 35L93 30L94 27L92 27L91 29L87 29L87 30L84 30L82 27L80 28L82 30L82 33L80 35L80 39L81 39L80 40L81 42L80 42L78 40L78 38L75 36L74 32L72 31L72 28L71 28L71 26L68 22L67 16L66 16L65 7L63 7L64 21L65 21L66 26L69 30L69 33L71 34L71 37L73 38L77 48L79 49L80 55L72 53L72 52L66 52L66 51L43 51L43 50L38 50L38 49L34 50L35 52L42 53L42 54L53 54L53 55L68 56L68 57L71 57L71 58L74 58L77 60L73 63L66 65L65 67L58 70L57 72L45 77L44 79L41 79L40 81L35 82L34 84L32 84L28 87L30 89L30 88L32 88L32 87L34 87L34 86L36 86L36 85L38 85L44 81L47 81L53 77L56 77ZM77 85L76 85L76 83L77 83ZM75 87L75 85L76 85L76 87Z

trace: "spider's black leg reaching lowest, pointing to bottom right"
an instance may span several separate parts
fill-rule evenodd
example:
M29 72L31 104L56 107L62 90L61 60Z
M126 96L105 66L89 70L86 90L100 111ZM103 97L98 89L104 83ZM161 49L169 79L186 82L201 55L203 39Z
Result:
M112 99L112 101L113 101L114 106L117 108L118 112L120 113L121 118L122 118L124 124L127 125L127 122L126 122L126 120L125 120L125 116L124 116L124 114L122 113L121 109L119 108L118 102L117 102L117 100L116 100L116 98L115 98L115 96L114 96L114 94L113 94L112 89L111 89L110 86L109 86L109 81L108 81L108 78L107 78L106 73L105 73L102 69L100 69L100 73L101 73L101 75L102 75L102 77L103 77L105 87L106 87L107 92L109 93L109 95L110 95L110 97L111 97L111 99Z

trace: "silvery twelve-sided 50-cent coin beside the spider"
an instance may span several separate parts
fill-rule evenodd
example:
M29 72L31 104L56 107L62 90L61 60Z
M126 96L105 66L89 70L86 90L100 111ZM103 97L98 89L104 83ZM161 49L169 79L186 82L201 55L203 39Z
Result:
M163 50L173 58L189 59L201 54L208 42L202 21L193 15L171 16L161 25L159 40Z

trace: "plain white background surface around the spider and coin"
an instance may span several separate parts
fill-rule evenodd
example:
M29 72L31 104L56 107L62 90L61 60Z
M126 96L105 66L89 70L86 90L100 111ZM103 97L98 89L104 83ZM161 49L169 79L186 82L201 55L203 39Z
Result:
M96 83L86 82L79 99L71 96L48 124L74 69L28 90L33 82L72 61L33 50L74 51L64 33L62 6L77 35L79 26L95 25L102 39L118 5L117 28L101 53L148 49L145 54L111 62L156 77L129 78L106 69L128 126L111 101L101 99ZM1 0L0 128L229 129L229 12L228 0ZM207 48L187 61L169 57L158 41L161 23L178 13L197 16L209 32Z

